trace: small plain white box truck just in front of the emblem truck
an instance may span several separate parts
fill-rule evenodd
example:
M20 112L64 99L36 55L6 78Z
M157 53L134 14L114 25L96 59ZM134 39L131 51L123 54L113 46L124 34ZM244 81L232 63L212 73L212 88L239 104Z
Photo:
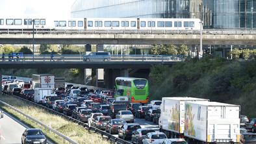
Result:
M51 95L52 92L51 88L34 88L34 102L42 103L44 96Z

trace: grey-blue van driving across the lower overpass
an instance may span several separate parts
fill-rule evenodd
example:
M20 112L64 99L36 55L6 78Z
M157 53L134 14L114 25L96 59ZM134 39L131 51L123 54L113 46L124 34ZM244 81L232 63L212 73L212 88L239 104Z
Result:
M110 61L109 52L94 52L84 56L84 61L86 62L107 62Z

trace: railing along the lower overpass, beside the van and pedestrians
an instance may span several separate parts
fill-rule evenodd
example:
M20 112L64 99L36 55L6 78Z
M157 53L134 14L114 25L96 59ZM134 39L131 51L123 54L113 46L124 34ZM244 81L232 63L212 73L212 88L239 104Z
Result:
M27 61L43 61L43 62L84 62L85 54L54 54L53 58L51 58L51 54L35 54L34 58L32 54L22 54L18 58L14 55L8 56L5 54L5 58L3 58L3 54L0 54L1 60L0 62L27 62ZM103 59L101 56L93 57L92 59ZM184 61L186 56L184 55L151 55L151 54L118 54L118 55L110 55L109 62L158 62L158 61ZM97 61L97 60L96 60ZM102 60L103 61L103 60Z

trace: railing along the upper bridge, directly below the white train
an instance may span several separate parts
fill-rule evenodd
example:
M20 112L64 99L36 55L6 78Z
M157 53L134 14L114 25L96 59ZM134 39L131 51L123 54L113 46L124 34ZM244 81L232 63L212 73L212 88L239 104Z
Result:
M256 29L204 29L203 34L256 34ZM0 34L32 34L32 30L0 30ZM200 34L200 30L41 30L34 34Z

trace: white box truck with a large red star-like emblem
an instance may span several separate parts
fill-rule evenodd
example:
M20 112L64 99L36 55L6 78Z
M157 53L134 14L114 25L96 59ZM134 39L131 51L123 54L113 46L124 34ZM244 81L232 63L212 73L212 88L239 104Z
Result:
M32 75L32 88L51 88L55 89L55 76L50 74Z

